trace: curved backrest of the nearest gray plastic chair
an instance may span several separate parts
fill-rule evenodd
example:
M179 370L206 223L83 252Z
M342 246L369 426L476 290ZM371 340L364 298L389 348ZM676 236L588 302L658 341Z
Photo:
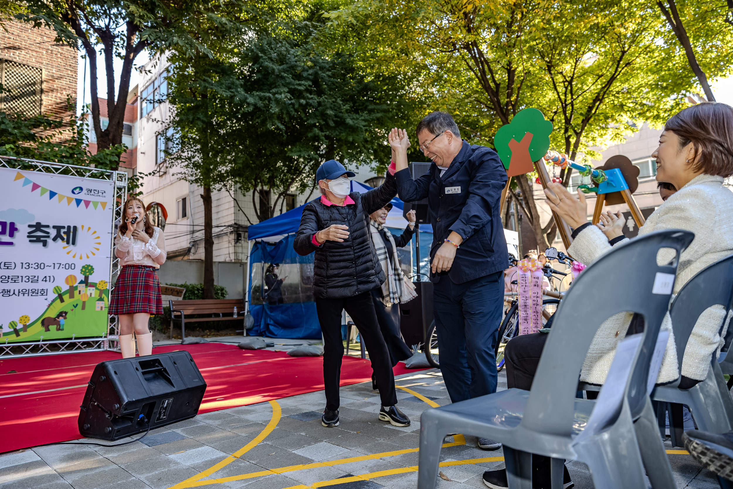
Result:
M644 316L644 340L636 354L626 398L634 416L647 396L649 362L672 287L652 293L659 276L677 272L679 254L695 235L681 229L663 229L614 246L586 268L561 302L542 351L521 424L528 430L570 436L575 392L583 361L599 326L619 312ZM659 249L677 251L668 265L657 265ZM657 290L659 292L659 290Z

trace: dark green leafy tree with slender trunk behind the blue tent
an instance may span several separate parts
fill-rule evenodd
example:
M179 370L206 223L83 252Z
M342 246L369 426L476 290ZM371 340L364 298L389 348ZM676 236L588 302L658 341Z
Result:
M397 78L319 51L312 23L264 24L210 37L215 56L170 58L176 138L166 158L202 187L206 298L213 298L213 189L253 191L255 209L258 196L265 202L258 215L269 218L287 192L314 188L323 161L387 164L386 133L409 110Z

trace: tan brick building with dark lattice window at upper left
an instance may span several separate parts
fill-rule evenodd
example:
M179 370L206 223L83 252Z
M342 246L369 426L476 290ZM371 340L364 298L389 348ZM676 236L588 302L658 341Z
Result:
M56 33L32 29L29 24L4 21L0 29L0 111L21 111L27 116L53 114L54 119L75 114L67 98L76 103L77 54L54 43Z

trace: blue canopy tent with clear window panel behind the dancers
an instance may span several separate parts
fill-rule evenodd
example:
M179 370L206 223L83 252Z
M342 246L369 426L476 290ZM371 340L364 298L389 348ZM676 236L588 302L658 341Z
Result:
M351 191L363 194L371 189L369 185L351 181ZM404 203L397 197L391 203L394 210L389 213L386 226L405 229L408 221L402 217ZM301 257L292 249L295 233L301 225L303 207L306 205L248 227L247 307L254 318L254 328L249 334L273 338L320 338L320 325L311 293L314 255ZM432 227L423 225L420 231L432 233ZM421 242L430 240L432 238L422 238ZM421 255L426 253L427 250L421 250Z

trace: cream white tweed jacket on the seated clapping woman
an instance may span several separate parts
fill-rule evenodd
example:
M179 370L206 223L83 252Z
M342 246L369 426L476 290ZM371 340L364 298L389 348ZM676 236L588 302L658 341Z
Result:
M733 192L723 187L723 177L699 175L660 205L639 229L639 235L659 229L685 229L695 233L695 239L679 259L673 290L677 294L707 265L733 254ZM578 234L568 251L575 260L590 265L610 249L603 232L589 226ZM622 312L609 317L600 326L583 363L581 380L596 384L605 382L616 343L625 337L631 317L630 313ZM721 336L725 336L727 324L722 334L718 334L723 320L729 322L730 315L726 318L725 308L720 305L700 315L685 348L682 375L695 380L704 380L707 376L712 353L722 345ZM669 314L662 328L671 330ZM670 331L658 383L668 383L679 377L677 355Z

